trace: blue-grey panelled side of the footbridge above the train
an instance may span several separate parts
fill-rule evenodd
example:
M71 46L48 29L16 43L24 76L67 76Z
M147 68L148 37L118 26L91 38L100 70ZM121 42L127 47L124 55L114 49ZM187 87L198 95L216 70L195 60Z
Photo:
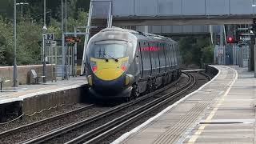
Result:
M114 26L250 24L254 0L91 0L93 18L106 18L111 2Z

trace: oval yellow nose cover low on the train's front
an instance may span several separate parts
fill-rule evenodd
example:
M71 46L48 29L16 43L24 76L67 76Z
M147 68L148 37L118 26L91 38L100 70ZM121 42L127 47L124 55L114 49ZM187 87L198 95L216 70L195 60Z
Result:
M95 73L95 75L104 81L111 81L119 78L122 75L122 73L123 72L121 70L109 68L109 69L98 70Z

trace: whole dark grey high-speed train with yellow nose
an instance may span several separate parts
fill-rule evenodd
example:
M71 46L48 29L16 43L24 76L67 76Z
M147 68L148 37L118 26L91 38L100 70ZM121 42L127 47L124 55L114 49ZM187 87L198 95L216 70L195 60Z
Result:
M95 98L136 98L182 73L178 43L118 27L95 34L86 50L86 78Z

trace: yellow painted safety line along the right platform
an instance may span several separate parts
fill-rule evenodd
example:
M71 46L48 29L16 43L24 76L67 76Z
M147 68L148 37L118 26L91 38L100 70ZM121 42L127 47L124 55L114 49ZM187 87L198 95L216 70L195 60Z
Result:
M232 69L232 68L230 68ZM234 70L234 69L232 69ZM218 107L222 105L222 102L224 102L227 94L229 94L230 89L232 88L232 86L234 85L234 82L238 79L238 72L236 70L235 71L235 78L233 80L233 82L230 84L229 88L226 90L226 93L222 96L222 98L218 101L218 104L216 105L216 107L210 112L210 114L208 115L208 117L206 118L206 123L211 122L211 119L214 118L214 115L216 114ZM199 127L199 129L193 134L193 136L190 138L190 140L188 141L190 144L194 144L194 142L196 142L196 140L198 139L199 135L202 134L202 131L206 128L208 124L202 124L202 126Z

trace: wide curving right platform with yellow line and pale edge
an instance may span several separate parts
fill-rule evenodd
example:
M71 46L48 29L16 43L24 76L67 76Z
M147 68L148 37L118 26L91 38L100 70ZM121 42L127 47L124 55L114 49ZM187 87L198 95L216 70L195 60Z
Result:
M256 78L214 66L210 82L112 143L254 143Z

